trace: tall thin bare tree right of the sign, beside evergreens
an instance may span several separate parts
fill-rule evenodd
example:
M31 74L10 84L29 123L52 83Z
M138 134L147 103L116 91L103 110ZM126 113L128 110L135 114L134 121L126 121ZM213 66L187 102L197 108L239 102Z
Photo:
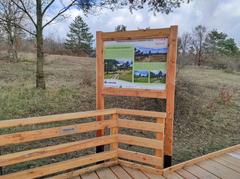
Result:
M203 61L205 51L205 42L208 38L207 29L205 26L198 25L193 30L192 50L195 53L197 65L200 66Z

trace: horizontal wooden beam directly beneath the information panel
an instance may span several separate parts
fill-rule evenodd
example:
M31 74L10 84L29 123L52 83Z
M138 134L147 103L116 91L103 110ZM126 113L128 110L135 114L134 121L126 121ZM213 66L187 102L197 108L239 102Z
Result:
M144 98L166 99L166 91L131 88L103 88L103 93L114 96L135 96Z

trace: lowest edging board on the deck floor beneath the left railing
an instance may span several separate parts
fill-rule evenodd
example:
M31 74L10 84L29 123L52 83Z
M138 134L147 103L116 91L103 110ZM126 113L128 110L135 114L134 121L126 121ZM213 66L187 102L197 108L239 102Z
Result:
M82 175L82 174L85 174L85 173L95 172L98 169L111 167L111 166L114 166L114 165L117 165L117 161L104 162L104 163L100 163L100 164L93 165L93 166L90 166L90 167L85 167L85 168L82 168L82 169L73 170L71 172L56 175L54 177L49 177L48 179L50 179L50 178L51 179L72 178L74 176L79 176L79 175Z

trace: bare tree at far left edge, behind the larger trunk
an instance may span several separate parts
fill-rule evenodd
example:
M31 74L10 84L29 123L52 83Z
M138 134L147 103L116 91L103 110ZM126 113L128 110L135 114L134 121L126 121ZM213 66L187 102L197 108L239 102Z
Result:
M7 35L8 56L12 62L18 61L17 44L21 35L21 29L24 13L8 0L0 0L0 26Z

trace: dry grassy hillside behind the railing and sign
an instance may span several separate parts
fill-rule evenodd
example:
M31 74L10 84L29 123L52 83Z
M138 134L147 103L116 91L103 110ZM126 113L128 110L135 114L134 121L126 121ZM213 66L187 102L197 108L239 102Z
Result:
M0 120L95 109L94 59L46 56L45 73L47 89L37 90L32 54L23 54L20 63L0 59ZM220 70L186 66L179 71L174 163L239 143L239 81L239 74ZM164 111L165 104L154 99L107 97L109 107ZM16 148L9 151L21 150Z

